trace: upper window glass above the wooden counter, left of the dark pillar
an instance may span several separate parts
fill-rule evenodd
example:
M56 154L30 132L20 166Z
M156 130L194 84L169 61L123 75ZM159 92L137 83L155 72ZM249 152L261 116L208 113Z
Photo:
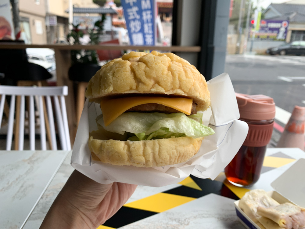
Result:
M28 18L28 23L25 25L27 26L27 40L31 40L35 44L67 43L72 21L72 24L78 25L78 36L81 36L83 44L118 40L117 45L131 45L130 38L134 37L138 43L141 43L142 40L153 40L153 43L149 44L171 45L174 0L73 0L73 15L70 20L69 0L10 2L12 12L9 17L12 17L13 21L13 11L18 8L19 17ZM137 9L132 6L131 9L124 10L125 2L127 5L135 3L138 10L132 12L133 9ZM16 7L17 3L18 7ZM139 17L139 20L127 23L126 18L133 14ZM105 16L103 26L96 27L95 23L101 20L102 15ZM90 38L92 30L94 30L93 33L98 33L98 35L94 35L93 39ZM29 39L29 31L32 32L31 39Z

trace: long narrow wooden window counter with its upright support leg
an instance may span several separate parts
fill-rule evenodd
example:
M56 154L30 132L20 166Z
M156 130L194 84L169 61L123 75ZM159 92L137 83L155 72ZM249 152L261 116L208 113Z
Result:
M199 53L200 46L135 46L135 45L25 45L18 43L0 43L0 49L26 49L26 48L49 48L55 51L57 85L67 85L69 87L68 96L66 96L66 108L70 130L70 139L73 144L77 122L76 108L73 92L73 82L69 80L68 70L71 66L71 50L158 50L161 52L183 52Z

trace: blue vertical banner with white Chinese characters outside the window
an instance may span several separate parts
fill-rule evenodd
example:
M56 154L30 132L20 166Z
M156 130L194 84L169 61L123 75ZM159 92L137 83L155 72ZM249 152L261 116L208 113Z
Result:
M155 0L121 0L131 45L155 45Z

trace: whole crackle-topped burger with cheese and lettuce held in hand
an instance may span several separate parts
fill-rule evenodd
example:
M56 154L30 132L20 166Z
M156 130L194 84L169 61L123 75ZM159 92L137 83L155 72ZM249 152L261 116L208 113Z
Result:
M155 167L186 162L204 136L210 106L203 75L173 53L131 52L101 67L85 96L102 115L89 134L92 158L113 165Z

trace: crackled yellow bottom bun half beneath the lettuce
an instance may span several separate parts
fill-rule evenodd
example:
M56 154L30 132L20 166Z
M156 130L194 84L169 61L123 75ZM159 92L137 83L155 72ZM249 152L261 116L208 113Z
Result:
M96 131L90 133L88 145L90 151L101 162L135 167L155 167L186 162L198 152L203 139L202 137L177 137L120 141L101 140L96 136Z

